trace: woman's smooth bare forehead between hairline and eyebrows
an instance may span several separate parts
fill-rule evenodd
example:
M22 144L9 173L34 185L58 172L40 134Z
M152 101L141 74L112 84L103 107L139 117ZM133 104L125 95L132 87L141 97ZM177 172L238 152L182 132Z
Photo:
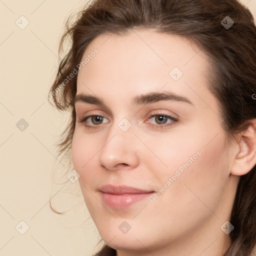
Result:
M95 48L98 53L91 54ZM120 97L161 88L193 97L195 91L209 93L207 55L178 35L152 29L101 34L87 46L81 61L86 57L89 61L78 72L77 94L103 96L111 91Z

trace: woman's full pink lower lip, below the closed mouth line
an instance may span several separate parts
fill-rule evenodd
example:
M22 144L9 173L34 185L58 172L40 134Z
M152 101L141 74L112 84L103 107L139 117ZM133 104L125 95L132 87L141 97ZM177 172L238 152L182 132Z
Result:
M149 197L153 193L109 194L101 192L101 197L103 202L111 208L126 208L135 202Z

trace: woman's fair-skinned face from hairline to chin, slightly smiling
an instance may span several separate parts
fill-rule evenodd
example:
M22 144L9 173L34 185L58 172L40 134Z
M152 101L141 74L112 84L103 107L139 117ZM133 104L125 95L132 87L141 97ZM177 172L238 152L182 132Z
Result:
M102 239L118 255L219 245L237 181L206 55L179 36L137 29L96 37L86 57L72 160ZM103 190L109 184L116 190Z

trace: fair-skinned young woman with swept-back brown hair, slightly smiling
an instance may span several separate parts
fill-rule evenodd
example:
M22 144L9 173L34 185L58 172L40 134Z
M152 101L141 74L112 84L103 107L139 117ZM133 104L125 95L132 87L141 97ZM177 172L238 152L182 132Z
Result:
M67 28L50 94L97 255L254 255L253 21L236 0L95 0Z

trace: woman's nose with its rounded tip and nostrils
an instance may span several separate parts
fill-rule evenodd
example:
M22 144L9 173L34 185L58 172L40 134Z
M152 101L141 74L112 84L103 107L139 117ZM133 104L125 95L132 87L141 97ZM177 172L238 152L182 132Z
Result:
M135 139L132 127L123 131L112 124L99 152L99 163L108 170L135 168L139 162Z

